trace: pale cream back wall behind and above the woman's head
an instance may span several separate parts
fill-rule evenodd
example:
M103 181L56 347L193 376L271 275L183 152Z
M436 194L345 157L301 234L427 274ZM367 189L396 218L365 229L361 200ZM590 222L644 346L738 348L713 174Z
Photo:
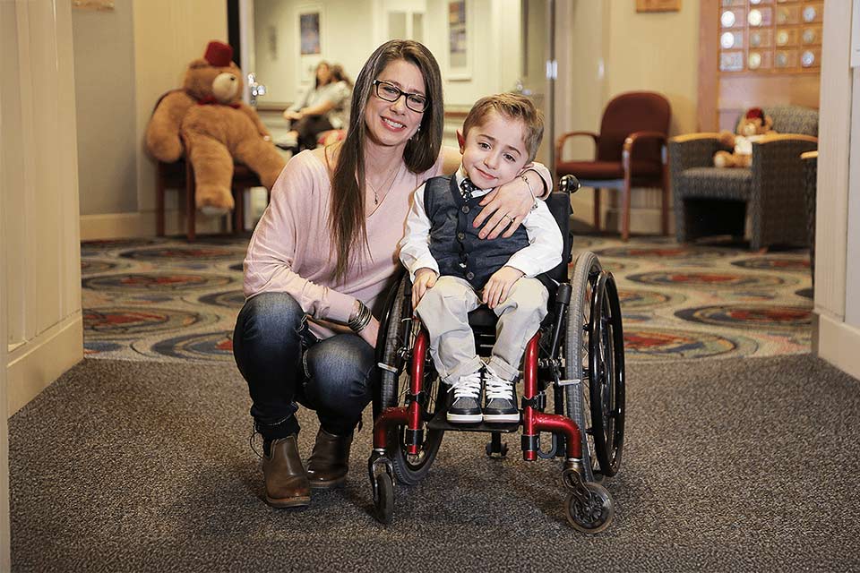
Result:
M254 0L254 72L269 93L264 105L285 104L296 98L297 18L299 8L319 5L322 10L322 59L341 64L355 80L367 56L384 41L386 10L413 10L426 7L426 38L443 73L445 105L470 107L482 96L511 90L520 71L520 3L513 0L472 0L469 15L473 22L470 47L471 78L450 80L447 75L447 3L393 2L384 0Z

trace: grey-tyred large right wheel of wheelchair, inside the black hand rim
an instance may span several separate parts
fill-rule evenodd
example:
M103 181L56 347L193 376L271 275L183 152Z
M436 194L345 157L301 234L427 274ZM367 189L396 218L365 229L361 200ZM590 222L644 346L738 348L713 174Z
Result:
M582 252L573 264L571 277L571 305L567 311L567 331L564 338L564 378L579 383L564 387L564 415L579 427L582 440L582 466L585 482L601 479L597 472L593 425L591 422L591 396L589 387L589 332L591 299L600 272L597 255Z

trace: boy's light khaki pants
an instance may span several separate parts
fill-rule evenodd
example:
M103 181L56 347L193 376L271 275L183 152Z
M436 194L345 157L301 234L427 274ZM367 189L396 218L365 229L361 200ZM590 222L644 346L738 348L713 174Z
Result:
M519 375L526 344L546 316L548 298L546 286L537 278L524 277L493 309L499 321L488 365L503 379L512 381ZM475 349L468 317L481 304L468 281L448 276L440 277L418 303L416 311L430 335L430 355L439 376L448 384L484 366Z

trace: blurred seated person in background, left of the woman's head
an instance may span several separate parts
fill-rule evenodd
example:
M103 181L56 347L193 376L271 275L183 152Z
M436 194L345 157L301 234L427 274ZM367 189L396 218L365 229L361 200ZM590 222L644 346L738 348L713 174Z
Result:
M294 153L313 150L320 133L340 129L348 123L352 82L343 67L320 62L316 66L314 88L284 111L292 121L284 144Z

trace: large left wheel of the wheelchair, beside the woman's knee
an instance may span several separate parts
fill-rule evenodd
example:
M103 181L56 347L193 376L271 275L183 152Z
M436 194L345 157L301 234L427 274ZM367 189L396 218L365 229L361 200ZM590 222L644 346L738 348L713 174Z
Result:
M411 297L406 295L408 276L400 279L394 295L390 297L387 316L383 324L385 339L380 362L385 368L380 369L378 399L374 400L375 414L384 408L406 406L406 394L409 390L409 361L412 355L412 345L417 336L418 324L412 320ZM426 364L424 391L426 399L426 420L433 417L436 405L441 405L441 383L433 363ZM403 426L397 428L389 438L389 455L394 468L394 475L400 483L415 485L430 471L430 466L439 451L444 432L442 430L426 430L420 453L409 455L406 445L406 431Z

